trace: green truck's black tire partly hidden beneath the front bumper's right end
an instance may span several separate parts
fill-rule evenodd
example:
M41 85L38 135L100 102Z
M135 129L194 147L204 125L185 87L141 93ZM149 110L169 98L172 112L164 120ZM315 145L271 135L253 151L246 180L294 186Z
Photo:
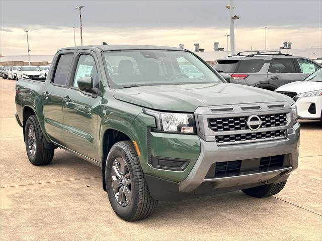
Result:
M269 197L282 191L285 184L286 184L286 180L279 183L267 184L267 185L262 185L258 187L243 189L241 191L243 191L244 193L252 197Z

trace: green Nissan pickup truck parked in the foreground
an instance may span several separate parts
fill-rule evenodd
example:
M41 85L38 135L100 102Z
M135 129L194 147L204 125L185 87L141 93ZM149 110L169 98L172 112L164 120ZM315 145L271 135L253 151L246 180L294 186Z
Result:
M158 200L271 196L298 166L294 101L227 83L181 48L60 49L45 81L18 80L16 105L30 162L49 164L59 147L100 166L114 212L128 221Z

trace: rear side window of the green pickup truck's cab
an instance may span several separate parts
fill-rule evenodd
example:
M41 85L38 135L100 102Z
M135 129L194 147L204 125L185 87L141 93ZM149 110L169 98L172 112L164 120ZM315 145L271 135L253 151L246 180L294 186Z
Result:
M59 56L58 64L55 69L53 83L57 85L65 85L68 72L70 69L73 54L62 54Z

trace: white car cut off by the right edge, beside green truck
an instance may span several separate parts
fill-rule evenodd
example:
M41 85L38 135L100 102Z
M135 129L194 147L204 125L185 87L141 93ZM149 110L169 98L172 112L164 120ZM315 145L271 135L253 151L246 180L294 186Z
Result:
M318 119L322 122L322 68L303 81L282 85L275 91L294 99L299 119Z

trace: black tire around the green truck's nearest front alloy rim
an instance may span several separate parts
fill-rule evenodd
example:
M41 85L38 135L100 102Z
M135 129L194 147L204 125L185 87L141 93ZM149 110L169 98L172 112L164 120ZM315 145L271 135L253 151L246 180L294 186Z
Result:
M126 161L126 165L129 169L130 172L130 176L131 176L131 193L132 193L132 198L130 200L130 202L128 203L127 206L123 207L121 206L113 193L113 187L112 187L112 176L111 176L111 169L112 169L112 165L114 160L117 157L121 157ZM123 150L123 148L121 148L120 146L116 145L113 146L111 148L111 151L107 157L107 161L106 161L106 168L105 168L105 182L106 182L106 187L107 187L107 194L111 203L111 206L113 208L113 210L115 211L115 213L123 218L123 219L127 219L130 218L132 216L135 215L135 211L136 211L136 206L137 206L137 179L134 176L134 172L133 172L133 168L132 168L132 164L131 161L126 153L125 150Z

